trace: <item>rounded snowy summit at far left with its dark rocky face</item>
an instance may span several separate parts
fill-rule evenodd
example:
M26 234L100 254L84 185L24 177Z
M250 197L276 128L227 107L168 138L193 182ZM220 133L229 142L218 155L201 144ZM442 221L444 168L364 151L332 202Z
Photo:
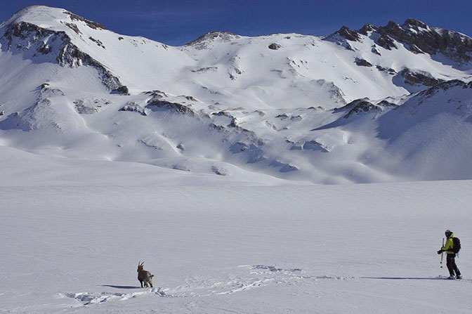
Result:
M101 42L85 34L103 29L99 23L62 8L28 6L1 24L0 44L2 50L22 53L32 60L63 67L95 67L103 84L115 90L122 87L119 79L77 45L84 39Z

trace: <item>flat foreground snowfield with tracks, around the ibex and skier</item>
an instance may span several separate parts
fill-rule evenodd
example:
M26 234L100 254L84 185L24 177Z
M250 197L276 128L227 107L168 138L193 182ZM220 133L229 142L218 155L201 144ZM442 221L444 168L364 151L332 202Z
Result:
M471 188L1 187L0 312L470 313Z

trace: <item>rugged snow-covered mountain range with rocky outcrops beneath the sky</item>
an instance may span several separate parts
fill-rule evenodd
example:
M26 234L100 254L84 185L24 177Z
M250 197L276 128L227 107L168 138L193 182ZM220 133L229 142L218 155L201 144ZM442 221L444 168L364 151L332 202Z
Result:
M30 6L0 45L0 146L261 182L472 178L472 39L418 20L173 47Z

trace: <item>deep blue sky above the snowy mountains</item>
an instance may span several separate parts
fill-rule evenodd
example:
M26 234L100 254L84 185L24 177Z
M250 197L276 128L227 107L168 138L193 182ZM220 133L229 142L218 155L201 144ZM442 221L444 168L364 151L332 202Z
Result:
M330 34L346 25L386 25L416 18L472 36L472 1L150 1L0 0L0 20L20 8L44 4L66 8L119 34L181 45L211 30L254 36L277 32Z

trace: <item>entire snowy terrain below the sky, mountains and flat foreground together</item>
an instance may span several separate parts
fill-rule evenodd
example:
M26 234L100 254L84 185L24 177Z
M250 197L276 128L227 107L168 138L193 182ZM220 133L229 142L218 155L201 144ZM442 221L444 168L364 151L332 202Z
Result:
M15 13L0 313L470 312L471 180L313 183L472 179L471 43L407 20L173 47Z

